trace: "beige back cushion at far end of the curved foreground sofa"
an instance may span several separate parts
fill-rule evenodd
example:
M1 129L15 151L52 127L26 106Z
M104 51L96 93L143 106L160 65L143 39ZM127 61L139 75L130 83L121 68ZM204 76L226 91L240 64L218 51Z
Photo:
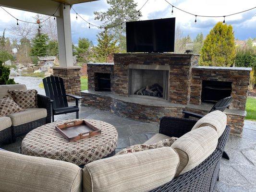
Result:
M197 129L199 127L209 126L213 128L218 137L222 135L227 125L227 115L221 111L212 111L208 113L206 116L202 117L198 120L192 130Z

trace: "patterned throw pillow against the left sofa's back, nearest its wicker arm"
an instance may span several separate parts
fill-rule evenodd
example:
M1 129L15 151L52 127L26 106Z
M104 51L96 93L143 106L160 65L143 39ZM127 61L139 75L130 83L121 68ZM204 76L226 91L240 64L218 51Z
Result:
M9 93L21 108L37 108L37 90L12 90Z

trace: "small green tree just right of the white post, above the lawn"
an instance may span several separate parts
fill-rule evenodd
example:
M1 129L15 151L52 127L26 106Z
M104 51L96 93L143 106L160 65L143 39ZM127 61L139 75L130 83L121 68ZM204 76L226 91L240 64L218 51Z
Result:
M78 46L75 48L77 60L80 62L87 62L89 60L89 48L91 47L93 47L92 41L90 41L88 38L79 38Z

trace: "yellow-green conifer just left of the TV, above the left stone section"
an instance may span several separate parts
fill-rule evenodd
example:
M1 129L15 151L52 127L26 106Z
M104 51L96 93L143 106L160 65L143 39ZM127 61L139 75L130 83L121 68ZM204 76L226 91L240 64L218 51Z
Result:
M113 53L118 53L119 47L116 46L117 40L109 34L108 30L100 32L98 35L98 45L95 47L96 59L98 62L112 61Z

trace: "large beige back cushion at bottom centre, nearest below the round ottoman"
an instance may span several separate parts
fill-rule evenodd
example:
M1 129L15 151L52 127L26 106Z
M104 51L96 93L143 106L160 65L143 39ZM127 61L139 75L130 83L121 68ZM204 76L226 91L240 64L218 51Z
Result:
M173 179L179 157L162 147L85 165L83 192L147 192Z

